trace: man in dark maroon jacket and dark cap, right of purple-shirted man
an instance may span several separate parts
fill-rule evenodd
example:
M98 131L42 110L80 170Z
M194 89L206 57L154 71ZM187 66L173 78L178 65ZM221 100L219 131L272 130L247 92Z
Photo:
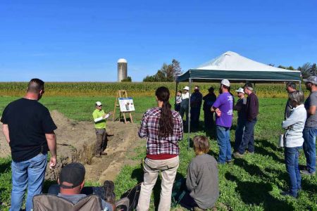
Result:
M244 93L248 95L246 115L247 122L245 123L244 135L237 152L234 153L235 158L241 158L244 151L247 149L248 153L254 153L254 126L256 124L256 117L259 114L259 100L253 92L251 83L247 83L243 87Z

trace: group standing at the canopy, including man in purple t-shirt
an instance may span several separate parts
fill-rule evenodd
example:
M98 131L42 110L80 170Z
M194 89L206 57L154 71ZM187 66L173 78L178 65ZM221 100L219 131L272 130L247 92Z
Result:
M178 91L176 96L175 110L180 111L181 117L186 114L188 121L189 110L189 87L183 89L183 93ZM234 156L241 158L247 149L247 153L254 153L254 126L259 113L259 100L254 94L253 86L247 83L243 88L236 90L238 101L230 92L230 82L223 79L220 82L219 96L214 94L213 87L209 88L209 94L202 96L199 86L194 87L194 93L190 96L191 126L199 126L199 115L201 103L204 100L204 123L206 131L214 127L213 115L216 114L216 137L220 149L218 162L224 164L231 162L230 128L232 126L233 110L237 110L238 120L235 131ZM247 94L247 98L244 97Z

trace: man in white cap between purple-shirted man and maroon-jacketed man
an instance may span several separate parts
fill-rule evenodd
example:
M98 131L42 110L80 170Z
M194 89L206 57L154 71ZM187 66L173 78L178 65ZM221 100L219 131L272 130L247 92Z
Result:
M235 107L233 110L237 110L237 128L235 129L235 146L234 150L237 151L237 148L240 146L240 143L242 141L243 133L244 133L244 127L245 122L247 121L247 115L246 115L246 106L247 106L247 98L244 97L244 91L243 88L239 88L236 90L238 100L237 104L235 104Z

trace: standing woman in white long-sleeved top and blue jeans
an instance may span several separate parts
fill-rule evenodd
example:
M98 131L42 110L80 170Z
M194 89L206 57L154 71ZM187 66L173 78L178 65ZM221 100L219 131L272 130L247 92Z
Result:
M302 91L293 91L289 94L290 104L293 109L290 117L282 122L285 133L285 165L290 175L290 190L282 195L297 198L298 191L302 188L302 177L299 172L299 149L302 148L303 130L306 122L306 109L304 108L304 94Z

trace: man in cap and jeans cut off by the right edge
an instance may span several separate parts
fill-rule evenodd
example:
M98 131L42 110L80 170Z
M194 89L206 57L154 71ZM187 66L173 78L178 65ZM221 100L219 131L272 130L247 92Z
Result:
M309 90L309 97L305 101L307 119L303 131L303 150L306 157L306 170L302 174L313 175L316 173L316 135L317 135L317 77L310 76L303 79L306 89Z

